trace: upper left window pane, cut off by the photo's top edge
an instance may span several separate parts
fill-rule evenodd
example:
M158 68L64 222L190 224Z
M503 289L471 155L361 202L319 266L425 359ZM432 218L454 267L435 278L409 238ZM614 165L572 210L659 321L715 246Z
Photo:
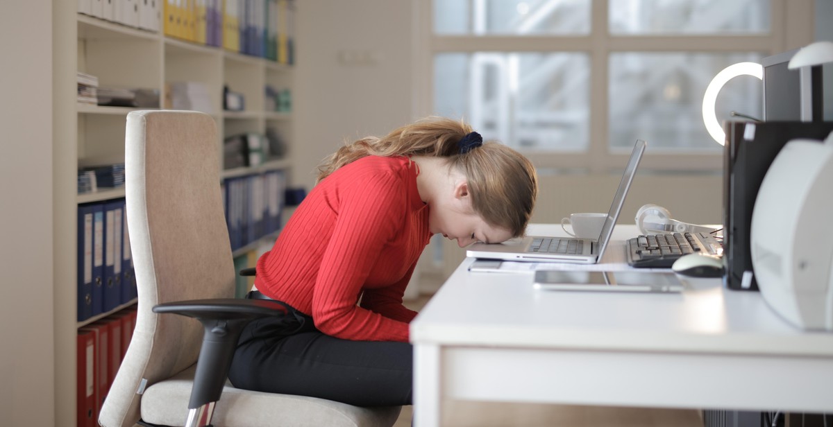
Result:
M588 34L591 0L435 0L434 32L449 35Z

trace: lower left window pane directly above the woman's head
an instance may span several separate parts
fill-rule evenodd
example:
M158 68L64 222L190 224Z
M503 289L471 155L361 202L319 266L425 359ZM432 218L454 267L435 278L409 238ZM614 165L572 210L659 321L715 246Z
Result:
M516 148L585 151L589 78L585 53L441 53L434 57L434 111Z

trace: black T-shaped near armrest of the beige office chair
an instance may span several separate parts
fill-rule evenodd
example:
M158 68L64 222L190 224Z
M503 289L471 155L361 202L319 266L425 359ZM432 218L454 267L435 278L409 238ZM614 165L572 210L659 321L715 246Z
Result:
M197 372L188 409L217 402L226 384L234 350L243 328L262 317L287 315L287 308L272 300L184 300L154 305L154 313L173 313L200 320L205 331L197 359Z

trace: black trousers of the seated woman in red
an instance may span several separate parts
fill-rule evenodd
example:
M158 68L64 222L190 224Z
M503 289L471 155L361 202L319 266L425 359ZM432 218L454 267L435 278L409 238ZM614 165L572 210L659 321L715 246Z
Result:
M411 344L325 335L312 317L284 305L289 315L254 320L243 330L228 374L232 385L357 406L412 405Z

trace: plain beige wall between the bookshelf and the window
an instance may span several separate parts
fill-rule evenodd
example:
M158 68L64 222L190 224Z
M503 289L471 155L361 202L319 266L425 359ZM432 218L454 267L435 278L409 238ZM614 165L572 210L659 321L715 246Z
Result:
M297 3L293 184L345 140L382 136L412 114L409 0Z

